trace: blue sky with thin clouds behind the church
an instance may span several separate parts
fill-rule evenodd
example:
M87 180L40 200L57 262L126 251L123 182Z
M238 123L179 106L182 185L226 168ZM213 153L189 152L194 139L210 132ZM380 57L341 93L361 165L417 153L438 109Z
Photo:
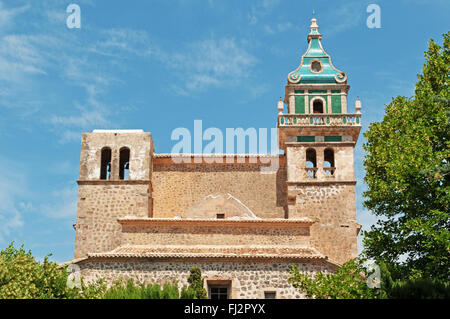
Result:
M66 8L81 8L68 29ZM369 29L366 8L381 7ZM334 65L347 73L363 126L411 96L430 38L449 30L450 2L0 0L0 247L73 257L81 132L152 132L170 152L173 129L271 128L287 74L306 51L312 10ZM358 221L363 137L355 152Z

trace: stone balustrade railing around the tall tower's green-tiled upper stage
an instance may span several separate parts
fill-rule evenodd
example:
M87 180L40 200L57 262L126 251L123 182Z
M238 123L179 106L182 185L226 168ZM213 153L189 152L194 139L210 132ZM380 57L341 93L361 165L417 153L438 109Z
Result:
M279 114L278 126L355 126L361 114Z

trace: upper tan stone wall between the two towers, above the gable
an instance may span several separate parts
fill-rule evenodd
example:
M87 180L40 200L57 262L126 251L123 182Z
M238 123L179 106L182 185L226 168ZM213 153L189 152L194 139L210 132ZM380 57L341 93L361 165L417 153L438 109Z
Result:
M230 194L259 218L285 218L286 166L261 172L259 163L173 164L154 160L153 217L187 217L209 195Z

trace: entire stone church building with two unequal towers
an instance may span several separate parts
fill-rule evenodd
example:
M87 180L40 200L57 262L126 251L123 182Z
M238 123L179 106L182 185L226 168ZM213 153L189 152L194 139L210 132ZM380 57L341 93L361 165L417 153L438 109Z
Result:
M329 273L357 256L361 103L349 112L347 75L325 52L315 18L307 40L274 107L280 155L194 161L155 153L142 130L82 134L71 262L85 280L181 288L199 267L212 299L303 298L287 281L290 265ZM263 172L275 159L278 169Z

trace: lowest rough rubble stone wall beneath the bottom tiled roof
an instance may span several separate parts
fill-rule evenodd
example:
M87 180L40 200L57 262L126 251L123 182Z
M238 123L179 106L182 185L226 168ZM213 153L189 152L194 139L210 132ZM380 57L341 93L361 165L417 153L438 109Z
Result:
M208 282L231 282L232 299L261 299L264 291L276 292L276 298L304 298L288 283L289 265L296 264L308 272L334 272L336 267L323 261L305 260L211 260L211 259L131 259L88 260L79 263L82 276L89 281L100 278L111 284L119 278L133 278L142 283L166 283L178 281L181 289L188 285L187 278L192 267L202 270L205 288Z

